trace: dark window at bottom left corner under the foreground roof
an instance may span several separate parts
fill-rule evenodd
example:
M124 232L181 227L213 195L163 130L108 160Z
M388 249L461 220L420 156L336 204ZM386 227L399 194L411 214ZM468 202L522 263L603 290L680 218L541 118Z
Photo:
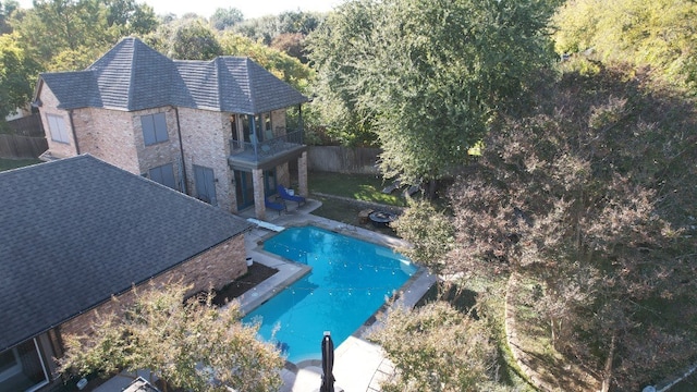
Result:
M0 353L0 391L36 391L48 383L36 340Z

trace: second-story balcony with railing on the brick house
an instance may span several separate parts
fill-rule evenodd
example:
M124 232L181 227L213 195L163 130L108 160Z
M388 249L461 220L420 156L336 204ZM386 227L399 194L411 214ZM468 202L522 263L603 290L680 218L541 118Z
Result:
M291 131L264 142L230 140L228 162L233 169L269 169L291 158L299 156L307 149L303 144L303 131Z

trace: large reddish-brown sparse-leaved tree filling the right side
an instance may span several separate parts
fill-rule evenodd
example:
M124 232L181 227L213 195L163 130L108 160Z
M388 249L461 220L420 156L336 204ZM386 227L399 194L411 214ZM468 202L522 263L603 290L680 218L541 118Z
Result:
M634 69L596 65L549 84L537 113L492 123L452 188L447 267L538 280L554 346L606 391L637 390L697 350L695 106Z

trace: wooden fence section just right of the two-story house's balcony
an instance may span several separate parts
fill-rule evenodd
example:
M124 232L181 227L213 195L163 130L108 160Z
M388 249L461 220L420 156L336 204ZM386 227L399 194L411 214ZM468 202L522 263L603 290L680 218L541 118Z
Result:
M310 146L307 152L309 170L333 173L380 174L377 167L379 148Z

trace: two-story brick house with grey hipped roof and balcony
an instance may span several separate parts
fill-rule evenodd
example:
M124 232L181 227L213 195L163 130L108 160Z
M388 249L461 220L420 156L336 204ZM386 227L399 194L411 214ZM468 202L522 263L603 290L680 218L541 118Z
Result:
M290 185L289 162L307 196L306 101L247 58L171 60L130 37L84 71L40 74L34 105L44 160L90 154L225 211L254 206L265 219L265 196Z

